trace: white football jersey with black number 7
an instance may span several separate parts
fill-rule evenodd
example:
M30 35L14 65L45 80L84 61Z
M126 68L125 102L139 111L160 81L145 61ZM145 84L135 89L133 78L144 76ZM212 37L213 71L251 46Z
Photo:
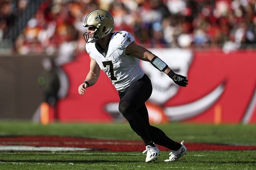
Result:
M133 41L130 33L115 32L109 42L106 57L96 49L95 43L86 43L87 53L108 75L118 91L124 91L144 75L139 65L140 59L125 54L126 47Z

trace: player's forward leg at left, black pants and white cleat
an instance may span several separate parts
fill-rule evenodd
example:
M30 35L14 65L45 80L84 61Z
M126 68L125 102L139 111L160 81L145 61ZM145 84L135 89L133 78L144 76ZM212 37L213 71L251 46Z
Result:
M146 162L156 160L159 150L153 144L146 124L136 110L148 100L151 93L152 85L147 75L144 75L141 79L133 83L126 91L119 93L120 103L118 109L129 122L132 130L144 141L146 150L143 153L147 152Z

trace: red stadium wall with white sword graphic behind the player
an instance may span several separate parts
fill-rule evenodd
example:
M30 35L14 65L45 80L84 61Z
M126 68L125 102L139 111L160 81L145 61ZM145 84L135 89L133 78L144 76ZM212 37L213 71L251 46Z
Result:
M228 54L194 51L192 54L187 71L189 85L178 87L175 95L164 103L149 101L151 122L256 123L256 51ZM70 89L68 96L58 103L60 121L122 121L116 113L118 93L102 71L98 82L84 96L78 95L78 86L89 71L89 63L88 54L81 53L63 66Z

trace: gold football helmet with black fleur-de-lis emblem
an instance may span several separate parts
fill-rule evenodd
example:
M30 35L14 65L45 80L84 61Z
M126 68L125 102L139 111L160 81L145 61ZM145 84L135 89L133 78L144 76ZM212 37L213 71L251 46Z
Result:
M114 18L105 10L94 10L86 16L83 26L95 28L93 34L84 33L86 43L96 42L114 31Z

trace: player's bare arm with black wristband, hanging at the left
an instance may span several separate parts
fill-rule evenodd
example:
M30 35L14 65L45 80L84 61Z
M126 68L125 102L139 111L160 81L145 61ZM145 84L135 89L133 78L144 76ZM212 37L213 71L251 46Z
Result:
M87 87L94 85L100 76L100 67L92 57L90 57L90 71L88 72L84 82L78 87L78 93L84 95Z

